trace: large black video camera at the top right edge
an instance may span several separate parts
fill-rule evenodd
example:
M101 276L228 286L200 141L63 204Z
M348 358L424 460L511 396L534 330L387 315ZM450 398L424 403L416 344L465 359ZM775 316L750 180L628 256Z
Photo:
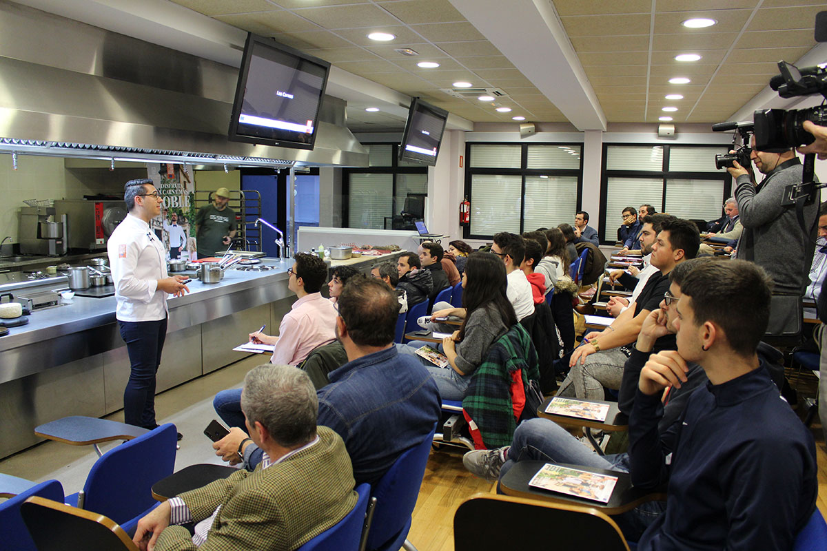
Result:
M825 64L799 70L795 65L778 62L778 74L770 80L770 88L781 97L810 96L820 93L827 97L827 69ZM755 149L781 153L797 145L809 145L815 140L805 131L804 121L827 126L827 105L809 109L761 109L754 113Z

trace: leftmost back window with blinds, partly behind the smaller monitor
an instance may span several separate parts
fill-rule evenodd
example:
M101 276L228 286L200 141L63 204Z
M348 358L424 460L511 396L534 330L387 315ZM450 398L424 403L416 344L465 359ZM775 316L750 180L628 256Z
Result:
M368 151L366 169L344 169L347 202L342 220L351 228L413 230L411 216L402 216L405 200L418 211L428 197L428 169L399 164L396 144L363 144Z

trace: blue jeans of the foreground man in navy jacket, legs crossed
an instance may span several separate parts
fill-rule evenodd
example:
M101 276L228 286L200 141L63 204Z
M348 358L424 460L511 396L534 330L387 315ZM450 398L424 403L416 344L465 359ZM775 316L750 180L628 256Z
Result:
M514 467L514 463L531 459L629 473L629 454L600 456L586 448L560 425L547 419L529 419L520 423L514 431L507 457L500 469L500 480ZM643 531L662 515L663 511L666 511L665 501L648 501L632 511L612 518L626 539L638 541Z

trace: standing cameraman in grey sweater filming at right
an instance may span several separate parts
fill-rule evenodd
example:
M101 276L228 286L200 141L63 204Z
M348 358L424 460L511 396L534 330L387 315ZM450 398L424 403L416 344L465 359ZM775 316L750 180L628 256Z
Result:
M799 226L796 207L782 204L784 189L801 183L802 166L796 152L758 151L754 137L751 145L750 159L765 178L753 184L747 169L737 161L727 169L735 178L735 198L743 225L738 258L751 260L767 271L775 283L773 294L801 297L813 254L819 201L804 207L805 226L813 230L808 238Z

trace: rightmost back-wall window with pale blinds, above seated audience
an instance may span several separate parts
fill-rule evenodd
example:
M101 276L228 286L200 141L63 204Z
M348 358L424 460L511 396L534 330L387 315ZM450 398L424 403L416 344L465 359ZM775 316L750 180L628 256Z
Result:
M604 145L600 232L614 242L625 207L647 203L658 212L695 220L721 216L731 179L715 169L715 154L727 147L693 145Z

